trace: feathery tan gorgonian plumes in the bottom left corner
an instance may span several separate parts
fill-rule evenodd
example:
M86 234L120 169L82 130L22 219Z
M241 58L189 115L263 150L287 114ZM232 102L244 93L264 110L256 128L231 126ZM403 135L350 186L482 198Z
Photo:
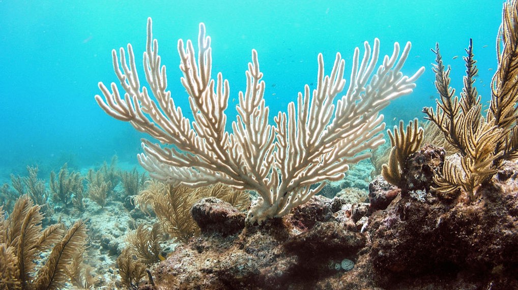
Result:
M77 221L67 231L61 224L43 229L40 206L24 195L7 219L0 210L0 288L58 289L69 279L66 269L84 252L86 225ZM50 251L42 267L36 262Z

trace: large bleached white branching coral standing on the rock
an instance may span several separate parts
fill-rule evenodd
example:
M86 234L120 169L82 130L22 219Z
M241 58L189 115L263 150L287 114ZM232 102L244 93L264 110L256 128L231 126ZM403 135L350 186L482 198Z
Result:
M146 52L143 55L146 81L141 86L131 44L120 55L112 51L113 67L125 91L115 83L108 88L99 83L104 96L95 96L110 116L130 122L148 133L154 143L143 140L140 164L151 177L171 184L200 187L222 183L238 190L251 190L258 199L247 220L262 222L282 217L293 207L318 193L325 181L339 180L349 164L371 156L369 149L384 143L385 124L380 110L392 100L408 95L423 73L420 68L408 77L401 72L410 51L410 42L400 51L394 44L391 56L378 65L379 45L364 44L364 54L355 49L349 87L345 95L345 62L336 54L333 69L325 74L322 54L318 56L316 88L306 85L297 101L279 112L270 125L265 103L265 83L257 52L246 72L247 87L239 93L237 116L227 131L229 84L221 73L211 79L210 37L199 25L198 50L188 40L178 41L181 83L189 94L193 120L185 117L167 89L165 66L161 66L158 44L148 19ZM338 100L336 100L338 99ZM319 184L316 187L311 187Z

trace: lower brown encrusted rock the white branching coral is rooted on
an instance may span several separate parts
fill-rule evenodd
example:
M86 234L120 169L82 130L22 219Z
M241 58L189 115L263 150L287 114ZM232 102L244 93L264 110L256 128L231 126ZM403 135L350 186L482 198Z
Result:
M324 289L325 285L318 284L347 273L344 268L350 269L366 245L363 234L342 225L351 216L350 210L342 207L350 209L351 205L314 196L290 215L262 225L247 224L238 234L229 235L224 227L211 226L211 231L202 231L154 269L155 288ZM196 208L205 213L223 212L221 202L215 199L198 202L193 213L199 211ZM335 216L339 211L344 212L338 220ZM196 222L207 224L210 216L198 215ZM225 215L218 216L218 223L238 223L233 215L227 215L226 221Z

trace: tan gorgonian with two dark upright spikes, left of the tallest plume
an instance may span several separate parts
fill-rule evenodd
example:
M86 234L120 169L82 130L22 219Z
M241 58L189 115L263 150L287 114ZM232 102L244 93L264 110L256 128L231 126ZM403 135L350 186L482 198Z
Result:
M488 123L481 115L481 97L473 86L478 69L473 59L471 40L464 57L466 76L460 100L454 96L455 89L449 86L450 67L444 69L438 44L434 52L437 62L434 67L436 87L441 101L437 101L435 112L431 108L424 108L423 111L461 156L460 164L445 161L442 175L434 179L438 185L434 189L450 194L461 188L473 199L473 191L496 172L496 160L501 154L494 150L494 145L503 136L498 126Z

